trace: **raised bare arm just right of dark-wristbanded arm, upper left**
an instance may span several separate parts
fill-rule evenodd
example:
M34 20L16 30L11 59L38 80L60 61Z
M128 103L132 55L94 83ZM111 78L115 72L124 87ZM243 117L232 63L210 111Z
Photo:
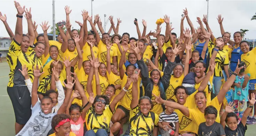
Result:
M25 18L28 21L28 34L29 34L30 46L33 46L34 40L35 40L35 33L34 33L33 22L32 22L31 8L29 8L29 10L26 9L25 13L26 13Z

